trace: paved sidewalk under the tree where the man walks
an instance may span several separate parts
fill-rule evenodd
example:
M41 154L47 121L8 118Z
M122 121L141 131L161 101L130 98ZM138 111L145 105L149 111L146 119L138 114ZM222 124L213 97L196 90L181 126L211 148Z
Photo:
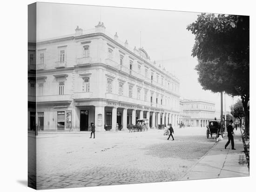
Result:
M239 130L240 131L240 130ZM231 150L231 142L224 148L228 137L225 136L205 154L189 172L179 180L214 179L249 176L249 169L243 149L241 133L235 131L236 150Z

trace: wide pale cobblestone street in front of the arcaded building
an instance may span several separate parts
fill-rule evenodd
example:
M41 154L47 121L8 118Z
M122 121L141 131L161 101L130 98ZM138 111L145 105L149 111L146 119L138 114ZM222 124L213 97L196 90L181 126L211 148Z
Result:
M175 141L163 130L128 133L39 134L37 188L106 186L174 181L215 144L206 128L175 128Z

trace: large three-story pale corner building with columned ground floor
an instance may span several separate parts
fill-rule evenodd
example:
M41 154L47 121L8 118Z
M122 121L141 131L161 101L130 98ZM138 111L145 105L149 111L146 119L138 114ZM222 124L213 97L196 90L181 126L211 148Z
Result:
M99 22L93 30L36 43L36 104L40 130L96 131L136 119L178 124L179 80L129 48ZM30 81L29 81L30 83ZM34 86L34 85L33 85ZM32 84L29 87L32 90Z

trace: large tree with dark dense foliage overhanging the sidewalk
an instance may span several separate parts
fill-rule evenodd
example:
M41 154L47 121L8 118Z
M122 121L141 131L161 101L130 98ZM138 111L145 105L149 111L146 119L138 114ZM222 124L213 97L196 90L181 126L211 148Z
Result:
M199 83L204 90L241 96L249 134L249 16L202 13L187 30L195 34Z

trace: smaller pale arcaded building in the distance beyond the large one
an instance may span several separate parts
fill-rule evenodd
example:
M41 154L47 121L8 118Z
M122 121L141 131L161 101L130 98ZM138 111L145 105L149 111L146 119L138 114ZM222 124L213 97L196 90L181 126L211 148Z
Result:
M215 118L215 104L204 100L188 100L184 99L183 119L186 125L191 127L205 127L210 120Z

